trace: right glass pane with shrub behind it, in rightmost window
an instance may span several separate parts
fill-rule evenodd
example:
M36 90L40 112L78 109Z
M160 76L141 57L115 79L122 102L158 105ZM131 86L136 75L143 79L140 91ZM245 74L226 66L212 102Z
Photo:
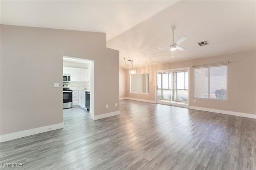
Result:
M227 99L227 66L210 67L210 98Z

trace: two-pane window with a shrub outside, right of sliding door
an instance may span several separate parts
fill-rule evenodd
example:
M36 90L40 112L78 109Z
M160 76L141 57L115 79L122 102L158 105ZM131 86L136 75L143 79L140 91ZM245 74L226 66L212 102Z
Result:
M194 97L227 99L227 65L194 68Z

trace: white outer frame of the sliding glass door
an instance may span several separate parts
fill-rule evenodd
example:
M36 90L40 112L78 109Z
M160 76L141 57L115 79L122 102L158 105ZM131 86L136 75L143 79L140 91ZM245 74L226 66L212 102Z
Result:
M190 107L190 67L176 68L176 69L166 69L156 71L156 103L158 103L158 73L162 72L172 72L172 71L182 71L188 70L188 108ZM171 96L172 100L172 96ZM172 102L171 102L172 103Z

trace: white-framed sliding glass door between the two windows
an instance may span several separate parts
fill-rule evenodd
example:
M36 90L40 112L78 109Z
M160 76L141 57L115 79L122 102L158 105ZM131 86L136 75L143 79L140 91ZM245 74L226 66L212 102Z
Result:
M189 68L157 72L157 103L188 107Z

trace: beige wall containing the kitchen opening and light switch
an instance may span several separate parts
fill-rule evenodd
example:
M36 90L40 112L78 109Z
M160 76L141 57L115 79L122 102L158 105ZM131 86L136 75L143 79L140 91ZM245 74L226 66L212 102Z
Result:
M119 111L119 51L106 34L1 25L1 135L63 123L63 55L94 61L94 115Z

